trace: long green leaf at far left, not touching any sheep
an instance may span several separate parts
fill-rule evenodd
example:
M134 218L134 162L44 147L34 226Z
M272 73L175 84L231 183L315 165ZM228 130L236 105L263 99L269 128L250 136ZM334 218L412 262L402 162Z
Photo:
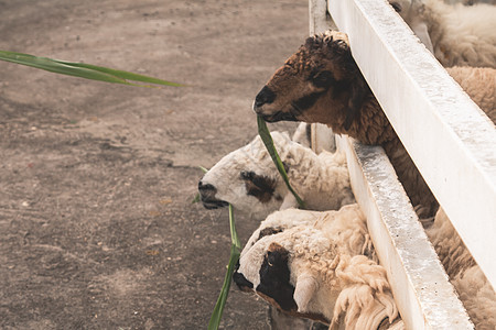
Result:
M30 54L15 53L15 52L7 52L0 51L0 59L11 63L17 63L21 65L26 65L40 69L44 69L55 74L75 76L86 79L106 81L106 82L115 82L115 84L123 84L123 85L132 85L132 86L145 86L148 85L138 85L132 84L128 80L140 81L140 82L150 82L165 86L183 86L176 82L165 81L162 79L148 77L143 75L132 74L123 70L116 70L111 68L106 68L101 66L84 64L84 63L72 63L58 59L52 59L47 57L39 57Z

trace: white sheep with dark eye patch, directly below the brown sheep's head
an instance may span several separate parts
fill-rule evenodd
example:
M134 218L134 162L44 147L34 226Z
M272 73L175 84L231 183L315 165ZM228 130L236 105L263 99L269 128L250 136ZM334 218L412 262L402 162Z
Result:
M355 201L344 153L316 155L285 133L271 135L291 186L308 209L338 209ZM231 204L257 219L296 206L259 136L215 164L200 180L198 190L207 209Z

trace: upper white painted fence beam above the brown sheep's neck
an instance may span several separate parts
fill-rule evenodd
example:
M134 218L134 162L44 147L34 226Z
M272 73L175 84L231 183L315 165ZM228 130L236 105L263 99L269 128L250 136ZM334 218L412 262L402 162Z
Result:
M330 0L360 70L496 287L496 129L384 0Z

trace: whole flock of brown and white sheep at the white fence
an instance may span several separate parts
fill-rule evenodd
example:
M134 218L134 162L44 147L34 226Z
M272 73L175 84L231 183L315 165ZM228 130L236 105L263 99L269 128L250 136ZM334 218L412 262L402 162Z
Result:
M449 74L496 121L496 7L390 0ZM496 329L496 295L439 207L355 64L345 34L314 35L257 95L266 121L325 123L337 134L381 145L476 329ZM198 184L206 208L231 204L261 221L234 280L292 317L330 329L403 329L385 268L349 184L343 153L272 132L298 204L260 138L231 152ZM263 220L265 219L265 220ZM263 221L262 221L263 220Z

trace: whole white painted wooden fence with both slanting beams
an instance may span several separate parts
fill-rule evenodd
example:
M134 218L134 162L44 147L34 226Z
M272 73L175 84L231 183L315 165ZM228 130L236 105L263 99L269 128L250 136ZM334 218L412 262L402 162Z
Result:
M326 11L348 34L401 142L496 287L495 125L386 1L310 0L311 34L331 26ZM315 128L313 140L322 143ZM384 151L347 138L338 144L408 329L473 329Z

